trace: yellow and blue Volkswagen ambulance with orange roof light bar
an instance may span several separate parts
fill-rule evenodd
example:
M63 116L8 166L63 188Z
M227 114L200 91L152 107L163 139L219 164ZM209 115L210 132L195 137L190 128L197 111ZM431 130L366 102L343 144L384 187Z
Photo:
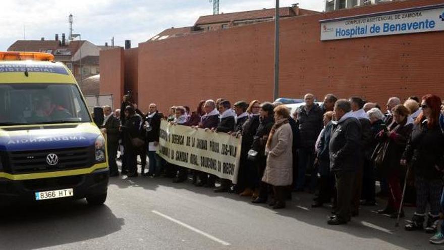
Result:
M45 53L0 52L0 206L106 200L106 143L70 70Z

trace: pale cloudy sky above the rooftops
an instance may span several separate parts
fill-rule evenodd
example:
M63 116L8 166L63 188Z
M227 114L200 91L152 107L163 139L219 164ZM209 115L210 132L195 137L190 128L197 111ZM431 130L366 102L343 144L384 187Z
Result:
M280 0L281 7L299 3L300 8L323 11L324 0ZM219 13L274 8L275 0L219 0ZM0 51L16 40L53 40L69 34L68 16L73 14L73 33L97 45L132 47L162 30L192 26L199 16L211 15L208 0L2 0Z

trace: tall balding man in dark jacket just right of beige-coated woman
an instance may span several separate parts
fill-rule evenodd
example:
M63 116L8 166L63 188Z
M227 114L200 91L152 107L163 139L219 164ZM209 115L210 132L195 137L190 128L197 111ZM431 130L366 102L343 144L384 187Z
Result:
M297 122L299 125L299 133L301 138L301 147L299 148L299 171L297 191L303 191L305 186L305 171L308 167L313 167L315 153L314 144L319 133L322 130L322 109L314 103L313 94L306 94L305 105L299 107L297 112ZM310 188L314 189L316 184L315 171L312 171Z

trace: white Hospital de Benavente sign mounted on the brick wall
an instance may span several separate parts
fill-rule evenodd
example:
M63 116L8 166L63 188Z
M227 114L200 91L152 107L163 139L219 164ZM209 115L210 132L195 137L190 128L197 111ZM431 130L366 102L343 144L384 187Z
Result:
M321 20L321 40L444 30L444 5Z

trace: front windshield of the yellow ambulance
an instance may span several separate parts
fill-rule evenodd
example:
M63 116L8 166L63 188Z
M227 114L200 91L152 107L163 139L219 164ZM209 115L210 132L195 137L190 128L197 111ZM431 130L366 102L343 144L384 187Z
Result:
M0 126L91 122L74 84L0 84Z

